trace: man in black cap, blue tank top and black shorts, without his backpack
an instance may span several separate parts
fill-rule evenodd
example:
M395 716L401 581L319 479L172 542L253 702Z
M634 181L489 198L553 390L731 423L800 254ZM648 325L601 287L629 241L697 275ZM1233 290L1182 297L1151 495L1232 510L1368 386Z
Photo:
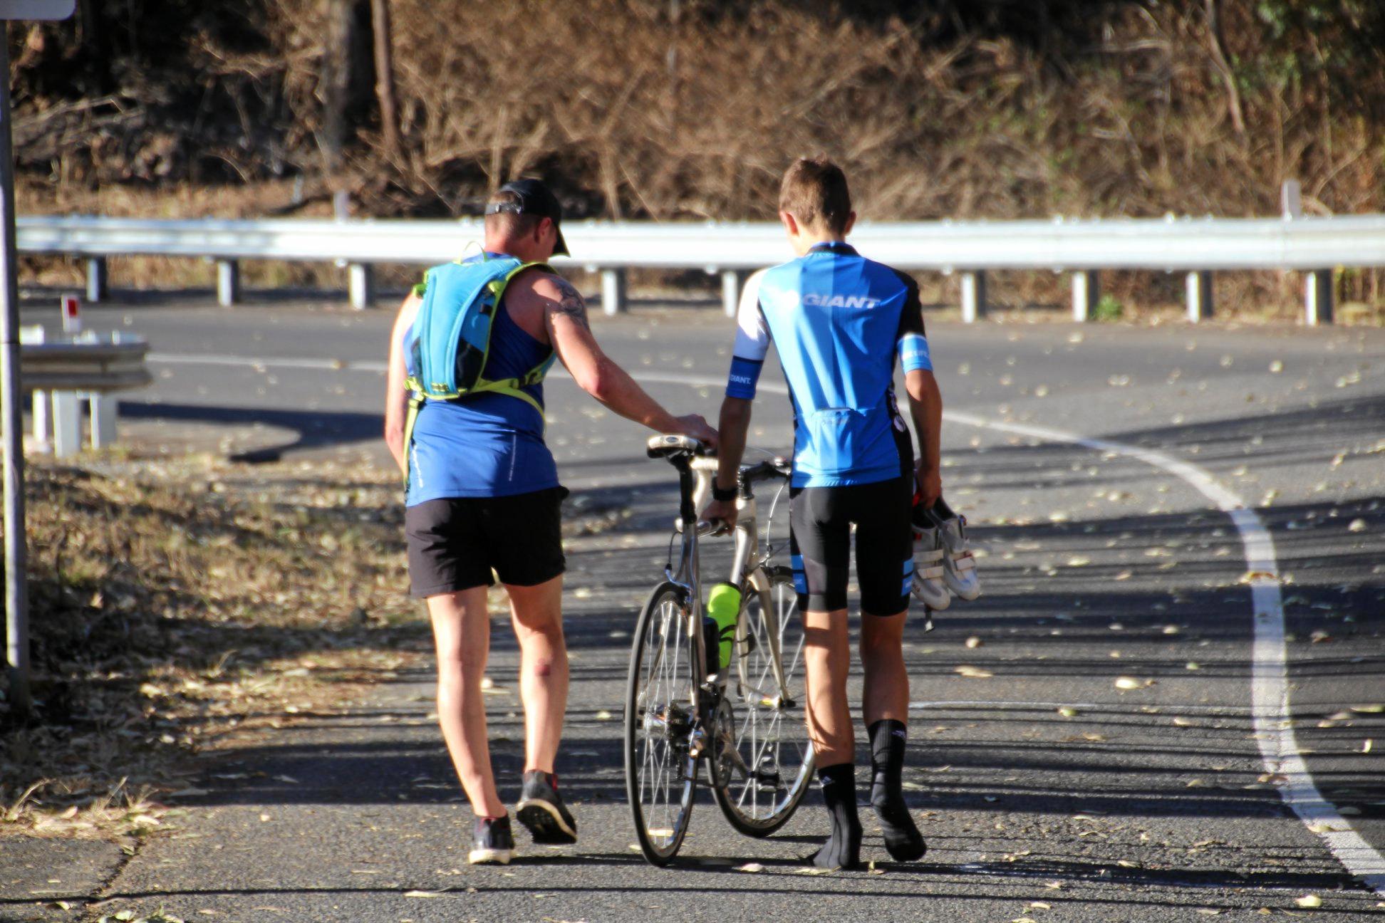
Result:
M486 206L485 253L543 263L566 253L562 209L539 180L508 183ZM422 292L404 300L389 346L385 441L409 476L404 531L414 596L427 599L438 648L438 720L476 815L472 862L508 862L514 839L496 790L481 681L490 645L486 591L494 572L510 596L521 649L525 772L515 815L536 843L576 841L576 821L558 796L554 760L568 702L562 637L562 540L553 454L543 440L543 385L530 400L475 393L428 400L404 444L410 400L407 349ZM616 414L655 432L715 443L698 415L674 417L605 356L578 291L544 267L524 270L504 289L483 375L522 378L553 353L578 386Z

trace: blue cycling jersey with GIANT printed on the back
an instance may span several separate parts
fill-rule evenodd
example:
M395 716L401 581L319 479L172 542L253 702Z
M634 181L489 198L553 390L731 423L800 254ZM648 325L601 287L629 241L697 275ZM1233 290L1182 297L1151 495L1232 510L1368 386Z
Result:
M770 342L794 401L794 487L909 473L895 357L931 369L918 285L841 242L756 273L741 298L729 397L752 399Z

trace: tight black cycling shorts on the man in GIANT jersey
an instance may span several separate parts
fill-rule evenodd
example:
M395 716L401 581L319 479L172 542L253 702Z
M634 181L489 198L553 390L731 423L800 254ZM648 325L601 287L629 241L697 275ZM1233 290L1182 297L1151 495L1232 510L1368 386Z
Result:
M861 612L897 616L909 607L914 574L911 476L846 487L795 487L789 497L788 541L801 610L846 607L853 523Z

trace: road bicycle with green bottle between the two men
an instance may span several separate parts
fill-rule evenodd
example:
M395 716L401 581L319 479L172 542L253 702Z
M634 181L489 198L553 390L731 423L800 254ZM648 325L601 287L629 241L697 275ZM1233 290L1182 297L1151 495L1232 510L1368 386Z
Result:
M794 815L813 778L803 709L803 625L794 573L760 544L756 484L785 488L783 458L742 466L737 479L734 554L727 583L741 594L730 659L722 663L715 621L704 612L698 522L716 458L688 436L650 439L650 458L679 472L679 518L665 580L640 612L625 703L625 779L640 851L654 865L677 855L687 836L698 767L733 828L769 836ZM777 501L776 495L776 501ZM770 508L771 519L774 505ZM679 563L673 545L681 537Z

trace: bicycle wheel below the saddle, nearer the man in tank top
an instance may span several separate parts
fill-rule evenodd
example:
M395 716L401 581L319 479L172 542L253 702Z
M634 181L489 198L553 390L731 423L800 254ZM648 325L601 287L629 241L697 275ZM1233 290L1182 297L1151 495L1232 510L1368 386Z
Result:
M687 594L672 583L655 587L634 630L625 700L625 789L640 851L666 865L683 846L692 812L697 760L694 642Z

